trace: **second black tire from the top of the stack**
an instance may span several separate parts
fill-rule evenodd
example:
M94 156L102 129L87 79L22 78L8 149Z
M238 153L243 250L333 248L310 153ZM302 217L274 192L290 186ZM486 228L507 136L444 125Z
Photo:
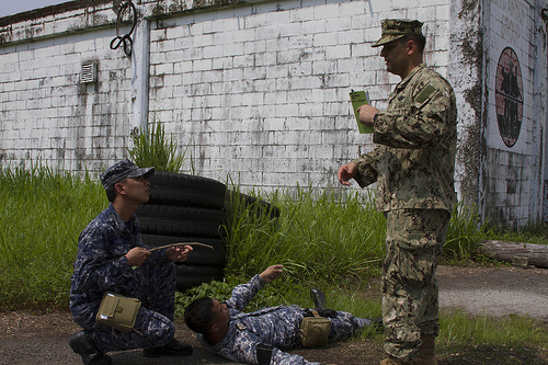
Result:
M144 233L220 237L222 210L144 204L136 212Z

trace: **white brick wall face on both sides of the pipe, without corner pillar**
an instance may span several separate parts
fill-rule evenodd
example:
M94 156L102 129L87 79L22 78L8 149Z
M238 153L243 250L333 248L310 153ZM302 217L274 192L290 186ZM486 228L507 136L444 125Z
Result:
M119 2L81 3L89 5L0 22L4 166L39 157L54 167L99 170L125 155L132 126L140 124L132 82L139 76L135 58L144 57L132 61L109 48ZM329 186L340 163L372 148L370 136L356 132L349 92L366 89L384 106L398 81L370 47L381 19L425 20L426 61L446 73L445 1L137 7L150 27L150 121L195 146L202 174L230 175L243 187ZM94 85L79 84L87 60L99 64ZM60 137L55 145L52 135Z

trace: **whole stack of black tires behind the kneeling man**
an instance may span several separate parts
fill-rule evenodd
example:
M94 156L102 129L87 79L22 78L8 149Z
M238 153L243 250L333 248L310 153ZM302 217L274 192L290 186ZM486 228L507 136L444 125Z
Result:
M226 265L222 238L226 185L219 181L158 171L148 179L150 201L136 212L146 246L199 242L184 263L176 263L176 289L220 281Z

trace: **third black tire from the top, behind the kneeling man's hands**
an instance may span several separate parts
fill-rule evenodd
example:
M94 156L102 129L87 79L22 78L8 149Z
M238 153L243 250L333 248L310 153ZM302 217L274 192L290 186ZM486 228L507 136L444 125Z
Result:
M225 266L226 250L225 243L221 239L217 238L196 238L196 237L182 237L182 236L158 236L158 235L142 235L142 242L146 246L160 247L176 242L199 242L209 244L213 249L193 246L189 259L184 262L186 265L210 265L210 266Z

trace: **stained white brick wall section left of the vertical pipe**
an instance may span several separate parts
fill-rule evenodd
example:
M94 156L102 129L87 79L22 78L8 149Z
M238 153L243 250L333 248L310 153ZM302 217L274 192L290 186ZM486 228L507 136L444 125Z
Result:
M2 166L41 160L99 171L122 157L130 130L130 61L109 48L115 21L112 5L103 5L2 26ZM87 61L99 65L96 83L80 83Z

